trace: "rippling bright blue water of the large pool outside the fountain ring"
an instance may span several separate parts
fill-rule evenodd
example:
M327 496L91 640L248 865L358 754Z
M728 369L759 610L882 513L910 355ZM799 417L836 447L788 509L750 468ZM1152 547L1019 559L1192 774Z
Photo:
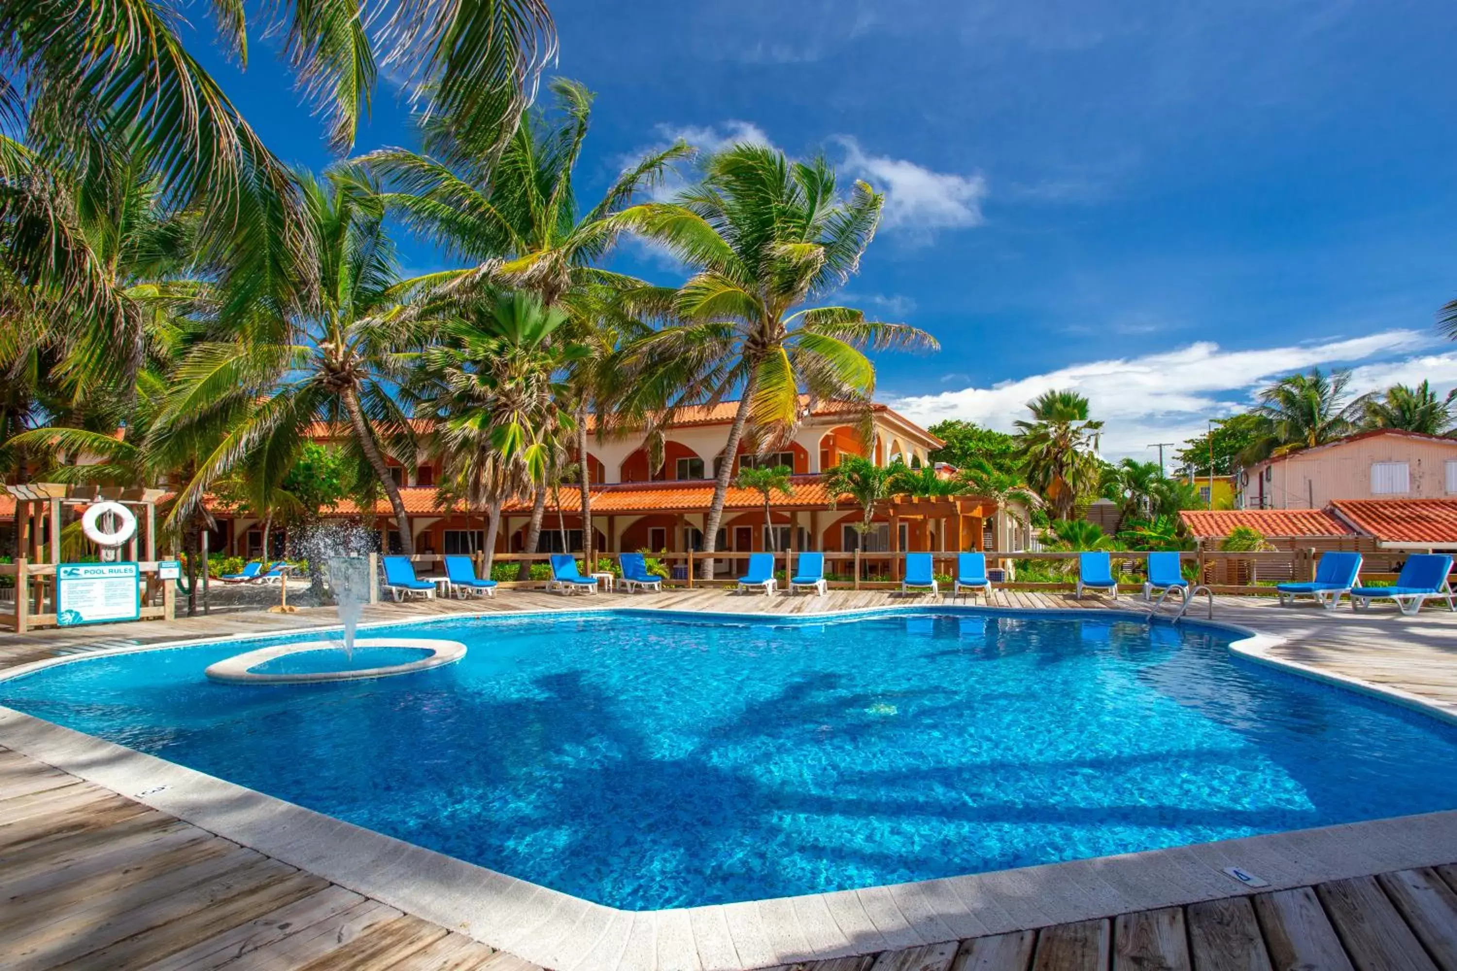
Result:
M928 610L382 633L469 654L256 687L203 668L259 642L153 651L0 681L0 703L627 908L1457 806L1457 731L1234 661L1211 627Z

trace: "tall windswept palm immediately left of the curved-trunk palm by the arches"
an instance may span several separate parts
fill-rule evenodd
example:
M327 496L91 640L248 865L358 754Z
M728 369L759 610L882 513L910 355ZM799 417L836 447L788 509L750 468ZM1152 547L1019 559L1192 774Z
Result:
M487 287L527 290L546 307L562 307L571 339L592 345L599 361L573 367L562 406L576 413L578 461L587 461L587 411L605 405L609 380L600 361L618 330L605 325L605 304L618 291L643 285L600 268L621 229L612 221L643 189L651 188L670 163L686 157L685 143L648 154L618 176L594 207L581 211L573 183L592 121L593 95L583 84L557 79L551 84L557 111L526 114L494 166L482 166L478 146L455 137L449 115L424 130L434 154L383 148L363 163L386 178L393 191L385 202L421 237L471 265L433 274L437 294L469 298ZM562 332L565 338L568 332ZM599 418L609 408L597 408ZM600 425L602 422L599 422ZM603 428L599 427L599 434ZM592 550L589 476L580 476L583 544ZM536 483L530 536L541 533L545 482ZM529 549L527 552L535 552Z

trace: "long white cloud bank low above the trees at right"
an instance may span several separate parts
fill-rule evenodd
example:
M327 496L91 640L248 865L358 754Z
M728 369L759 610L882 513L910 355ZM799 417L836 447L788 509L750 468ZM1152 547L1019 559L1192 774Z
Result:
M1072 364L991 387L900 397L892 406L922 425L965 418L1010 431L1013 421L1026 416L1027 402L1042 392L1074 389L1088 397L1093 416L1104 422L1103 454L1142 457L1150 443L1182 443L1199 435L1208 418L1247 408L1272 379L1310 367L1356 364L1352 370L1356 395L1423 379L1445 392L1457 384L1457 352L1415 354L1434 339L1419 330L1384 330L1327 344L1247 351L1225 351L1212 341L1201 341L1135 358Z

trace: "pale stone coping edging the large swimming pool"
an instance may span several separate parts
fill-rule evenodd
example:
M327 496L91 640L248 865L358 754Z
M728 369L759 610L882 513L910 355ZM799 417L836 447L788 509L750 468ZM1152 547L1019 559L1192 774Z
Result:
M803 626L893 614L908 607L983 616L1068 614L1139 623L1147 617L1122 610L1090 614L1074 609L1018 610L925 603L793 617L587 607L390 620L361 629L430 626L475 617L508 620L597 613L678 614L685 619L768 620ZM1190 623L1246 635L1230 645L1238 657L1457 724L1457 715L1421 697L1271 655L1272 648L1285 643L1284 638L1227 622ZM106 655L270 641L337 629L122 646L19 665L0 673L0 680ZM398 910L562 971L772 967L1435 866L1451 863L1457 855L1457 811L1445 811L849 891L624 911L383 836L13 709L0 708L0 744ZM1265 885L1241 884L1227 875L1230 868L1254 873Z

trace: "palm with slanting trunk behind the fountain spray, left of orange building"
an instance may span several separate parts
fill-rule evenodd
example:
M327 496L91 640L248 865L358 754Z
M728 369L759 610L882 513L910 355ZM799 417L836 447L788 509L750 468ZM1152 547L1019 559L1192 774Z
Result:
M347 448L389 499L401 547L412 555L409 514L385 456L389 447L414 451L393 392L427 330L393 319L401 312L395 249L374 188L351 169L322 182L300 175L297 188L307 259L267 281L277 290L256 294L243 281L246 298L224 296L224 307L246 304L242 329L186 357L149 447L166 453L217 435L178 494L175 518L243 463L262 461L270 477L286 472L313 422L347 428Z

